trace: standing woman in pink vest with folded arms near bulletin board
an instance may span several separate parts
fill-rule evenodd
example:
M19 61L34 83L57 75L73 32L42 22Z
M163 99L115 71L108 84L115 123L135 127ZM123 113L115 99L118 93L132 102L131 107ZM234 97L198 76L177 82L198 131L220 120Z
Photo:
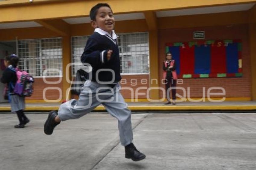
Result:
M165 89L166 89L166 98L167 103L165 105L173 104L176 105L176 89L172 88L172 102L170 99L170 91L168 93L168 89L170 87L176 87L177 74L175 69L175 61L172 60L172 54L166 53L166 60L163 62L163 78L166 80Z

